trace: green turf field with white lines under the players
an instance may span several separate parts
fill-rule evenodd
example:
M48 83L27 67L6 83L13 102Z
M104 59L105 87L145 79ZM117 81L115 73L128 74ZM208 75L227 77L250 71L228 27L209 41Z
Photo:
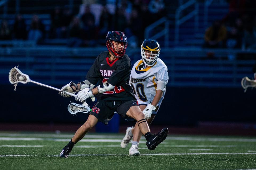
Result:
M143 138L128 156L123 135L88 133L65 159L73 134L0 132L0 169L256 169L256 138L169 135L154 151Z

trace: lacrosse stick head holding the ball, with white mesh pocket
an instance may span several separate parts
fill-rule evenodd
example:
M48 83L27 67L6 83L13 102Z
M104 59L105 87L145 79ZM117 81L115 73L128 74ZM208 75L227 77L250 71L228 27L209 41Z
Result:
M19 66L12 68L9 72L9 81L11 84L14 84L14 90L16 90L18 83L27 84L30 81L29 76L22 73L18 67Z

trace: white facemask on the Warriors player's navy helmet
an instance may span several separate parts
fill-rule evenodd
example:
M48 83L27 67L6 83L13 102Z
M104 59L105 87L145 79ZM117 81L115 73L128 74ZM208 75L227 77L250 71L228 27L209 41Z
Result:
M142 57L143 62L147 66L152 66L155 64L155 62L157 61L157 58L159 56L159 53L160 53L160 49L159 50L146 50L141 45L141 57Z

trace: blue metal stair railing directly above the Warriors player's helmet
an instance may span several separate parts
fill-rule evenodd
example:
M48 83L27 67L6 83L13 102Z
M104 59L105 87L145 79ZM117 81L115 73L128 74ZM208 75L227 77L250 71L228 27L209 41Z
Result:
M150 33L161 24L165 24L164 29L155 35L150 35ZM145 36L145 39L155 39L155 40L164 36L165 47L168 47L169 46L169 20L166 17L163 17L157 20L156 22L154 22L153 24L147 26L145 29L144 36Z

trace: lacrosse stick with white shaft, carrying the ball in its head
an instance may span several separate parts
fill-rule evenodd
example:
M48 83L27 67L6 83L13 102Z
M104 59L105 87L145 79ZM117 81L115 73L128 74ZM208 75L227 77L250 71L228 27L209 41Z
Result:
M48 86L46 84L42 84L42 83L30 80L29 76L27 74L22 73L18 69L18 67L19 66L12 68L10 73L9 73L9 81L10 81L11 84L14 84L13 85L14 86L14 91L16 91L16 87L17 87L18 83L27 84L27 83L31 82L31 83L34 83L34 84L37 84L37 85L47 87L49 89L53 89L53 90L57 90L57 91L61 92L60 89L57 89L55 87ZM69 92L65 92L65 93L70 95L70 96L76 97L75 94L72 94L72 93L69 93Z

